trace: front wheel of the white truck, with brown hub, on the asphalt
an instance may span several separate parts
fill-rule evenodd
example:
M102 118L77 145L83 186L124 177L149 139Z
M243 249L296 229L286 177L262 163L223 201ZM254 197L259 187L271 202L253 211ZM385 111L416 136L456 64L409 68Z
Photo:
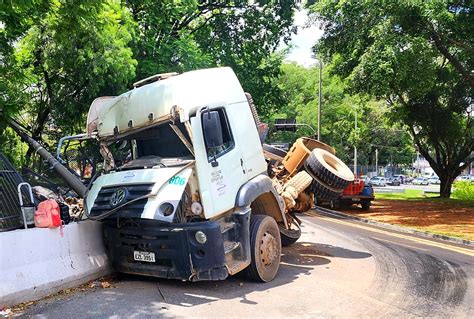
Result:
M260 249L264 248L261 247L264 245L264 238L268 238L265 242L268 250L265 252ZM266 254L271 255L270 259ZM250 218L250 255L251 262L244 270L245 275L260 282L273 280L280 268L281 238L278 225L272 217L253 215Z

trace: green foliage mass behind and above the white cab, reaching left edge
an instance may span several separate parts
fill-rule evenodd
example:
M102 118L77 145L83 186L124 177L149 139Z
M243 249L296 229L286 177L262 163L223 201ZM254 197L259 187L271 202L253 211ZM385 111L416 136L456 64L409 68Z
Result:
M6 1L0 9L0 109L35 139L83 131L93 99L163 72L231 66L263 114L295 2ZM3 124L4 125L4 124ZM13 145L2 131L2 145ZM4 133L4 134L3 134ZM10 148L2 147L12 156Z

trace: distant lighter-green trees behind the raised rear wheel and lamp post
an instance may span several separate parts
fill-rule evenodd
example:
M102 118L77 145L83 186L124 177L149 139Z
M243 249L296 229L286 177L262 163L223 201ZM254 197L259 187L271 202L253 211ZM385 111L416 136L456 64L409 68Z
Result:
M389 120L387 103L366 95L347 93L345 81L331 75L331 68L323 69L321 140L335 147L337 155L348 164L353 162L354 146L358 149L359 165L374 165L376 148L380 151L381 165L390 162L409 164L413 154L412 141L407 133L400 134L400 129ZM298 123L316 128L318 82L318 66L304 68L295 63L283 64L278 85L284 100L271 120L296 118ZM291 143L302 135L311 136L314 131L303 126L296 134L277 133L273 139Z

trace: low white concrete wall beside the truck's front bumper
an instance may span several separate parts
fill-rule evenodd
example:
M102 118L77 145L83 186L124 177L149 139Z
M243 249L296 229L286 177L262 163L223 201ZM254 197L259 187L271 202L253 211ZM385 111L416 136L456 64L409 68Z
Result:
M110 273L101 224L0 233L0 308L39 299Z

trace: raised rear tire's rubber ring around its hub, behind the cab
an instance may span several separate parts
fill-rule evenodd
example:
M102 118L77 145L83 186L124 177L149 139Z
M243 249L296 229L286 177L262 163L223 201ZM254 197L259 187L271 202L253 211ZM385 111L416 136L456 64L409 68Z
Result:
M349 185L350 182L354 180L354 176L352 175L352 179L349 176L345 178L337 176L335 173L331 172L321 161L318 159L318 154L323 153L325 156L331 156L335 160L337 160L338 165L340 165L340 169L344 170L344 173L347 173L346 170L350 169L342 163L337 157L332 155L331 153L324 151L322 149L315 149L309 154L308 158L306 159L306 167L307 169L311 170L311 172L323 183L326 185L335 188L335 189L344 189ZM326 164L328 165L328 164ZM339 168L338 168L339 169ZM346 174L347 175L347 174Z

